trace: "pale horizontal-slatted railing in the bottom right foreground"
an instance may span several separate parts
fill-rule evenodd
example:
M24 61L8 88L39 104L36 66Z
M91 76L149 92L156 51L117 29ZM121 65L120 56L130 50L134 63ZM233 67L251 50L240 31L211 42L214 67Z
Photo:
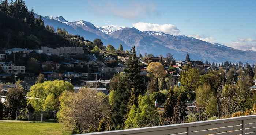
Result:
M81 135L245 135L256 134L256 115Z

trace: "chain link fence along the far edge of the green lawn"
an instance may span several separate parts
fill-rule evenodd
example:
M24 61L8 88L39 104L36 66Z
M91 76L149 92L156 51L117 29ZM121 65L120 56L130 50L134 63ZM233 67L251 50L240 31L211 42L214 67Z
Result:
M34 112L34 113L16 113L16 120L29 122L57 122L57 112Z

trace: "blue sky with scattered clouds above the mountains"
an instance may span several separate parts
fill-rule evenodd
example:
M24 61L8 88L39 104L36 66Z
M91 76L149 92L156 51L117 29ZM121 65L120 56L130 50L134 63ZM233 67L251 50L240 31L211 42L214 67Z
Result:
M256 51L256 0L25 0L42 16L193 36ZM140 23L139 23L140 22Z

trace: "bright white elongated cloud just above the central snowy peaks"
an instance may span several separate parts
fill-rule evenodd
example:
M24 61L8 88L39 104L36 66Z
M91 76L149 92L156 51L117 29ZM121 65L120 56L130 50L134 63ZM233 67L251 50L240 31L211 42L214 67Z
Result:
M157 32L163 32L166 34L174 34L178 35L180 34L180 30L174 26L173 24L151 24L151 23L134 23L132 24L133 27L140 31L157 31Z

